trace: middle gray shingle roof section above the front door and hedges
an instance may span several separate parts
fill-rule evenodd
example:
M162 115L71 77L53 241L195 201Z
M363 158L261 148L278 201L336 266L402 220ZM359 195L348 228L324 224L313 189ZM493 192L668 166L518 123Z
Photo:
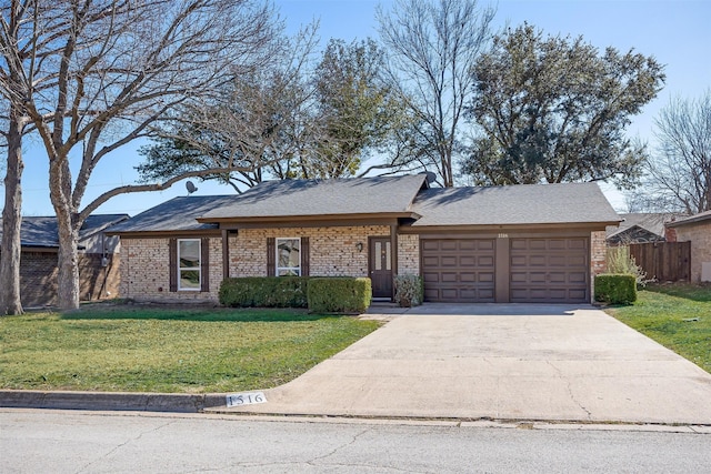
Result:
M267 181L201 218L289 218L336 214L404 213L424 183L424 174L338 180Z

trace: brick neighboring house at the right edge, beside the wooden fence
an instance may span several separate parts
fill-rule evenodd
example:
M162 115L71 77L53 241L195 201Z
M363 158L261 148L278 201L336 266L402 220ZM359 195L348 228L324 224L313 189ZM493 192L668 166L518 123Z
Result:
M691 242L691 281L711 282L711 211L669 222L678 242Z

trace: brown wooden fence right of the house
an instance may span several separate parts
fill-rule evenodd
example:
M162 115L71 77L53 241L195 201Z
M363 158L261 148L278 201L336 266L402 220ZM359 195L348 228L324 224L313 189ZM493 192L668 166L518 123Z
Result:
M689 281L691 242L652 242L630 244L630 255L658 282Z

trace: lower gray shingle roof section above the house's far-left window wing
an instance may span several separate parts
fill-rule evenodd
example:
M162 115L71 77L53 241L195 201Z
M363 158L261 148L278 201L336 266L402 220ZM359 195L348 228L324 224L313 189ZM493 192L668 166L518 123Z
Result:
M190 195L173 198L111 228L110 233L201 231L217 229L217 224L202 224L196 219L238 200L231 195Z

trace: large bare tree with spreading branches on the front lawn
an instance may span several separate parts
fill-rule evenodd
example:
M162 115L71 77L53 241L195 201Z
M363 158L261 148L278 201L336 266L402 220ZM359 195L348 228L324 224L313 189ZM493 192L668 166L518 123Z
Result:
M33 24L34 33L6 52L19 71L13 105L37 128L49 159L59 226L58 300L71 309L79 304L77 242L87 216L114 195L161 190L201 174L120 186L82 208L97 164L149 137L156 121L177 107L219 100L227 81L269 54L274 16L257 0L16 3L21 6L3 13L10 23ZM81 163L73 178L69 154L78 147Z

